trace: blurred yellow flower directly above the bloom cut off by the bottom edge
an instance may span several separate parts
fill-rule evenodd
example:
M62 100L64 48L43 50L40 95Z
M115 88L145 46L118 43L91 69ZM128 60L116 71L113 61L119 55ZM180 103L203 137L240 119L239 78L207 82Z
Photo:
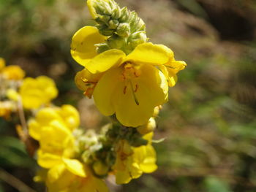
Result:
M70 105L61 108L45 107L35 119L29 120L29 134L39 141L38 164L50 169L61 164L63 158L75 155L75 138L72 130L79 125L77 110Z

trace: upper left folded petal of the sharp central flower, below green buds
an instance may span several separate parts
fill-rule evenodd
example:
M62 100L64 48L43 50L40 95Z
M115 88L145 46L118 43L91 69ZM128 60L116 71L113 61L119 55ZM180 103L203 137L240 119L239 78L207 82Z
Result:
M92 74L105 72L108 69L121 64L124 57L125 54L121 50L107 50L91 59L85 67Z

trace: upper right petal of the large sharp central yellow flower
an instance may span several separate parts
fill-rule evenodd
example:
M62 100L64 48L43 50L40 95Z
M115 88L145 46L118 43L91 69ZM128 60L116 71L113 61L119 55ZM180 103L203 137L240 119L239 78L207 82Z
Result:
M173 58L173 51L165 45L154 45L151 42L138 45L125 61L133 61L138 64L162 65L167 64Z

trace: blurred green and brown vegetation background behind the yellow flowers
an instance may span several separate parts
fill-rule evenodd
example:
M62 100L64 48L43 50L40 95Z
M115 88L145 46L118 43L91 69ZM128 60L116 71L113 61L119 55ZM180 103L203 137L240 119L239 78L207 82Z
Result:
M135 9L154 43L187 62L157 118L159 169L113 191L256 191L256 2L253 0L118 0ZM81 67L69 45L79 28L93 25L84 0L0 0L0 57L28 76L56 80L55 104L73 104L81 126L102 117L83 98L73 77ZM37 164L26 155L15 121L0 119L0 191L10 183L45 191L33 182ZM7 174L9 173L9 174ZM21 184L20 181L23 183ZM8 184L9 183L9 184ZM111 184L112 183L112 184Z

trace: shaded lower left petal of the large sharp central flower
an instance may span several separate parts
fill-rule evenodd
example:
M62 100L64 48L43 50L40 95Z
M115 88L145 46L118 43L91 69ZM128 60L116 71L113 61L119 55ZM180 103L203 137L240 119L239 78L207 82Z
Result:
M118 77L121 75L121 69L110 69L97 83L94 89L94 101L99 111L106 116L113 115L114 108L112 103L113 93L118 84Z

